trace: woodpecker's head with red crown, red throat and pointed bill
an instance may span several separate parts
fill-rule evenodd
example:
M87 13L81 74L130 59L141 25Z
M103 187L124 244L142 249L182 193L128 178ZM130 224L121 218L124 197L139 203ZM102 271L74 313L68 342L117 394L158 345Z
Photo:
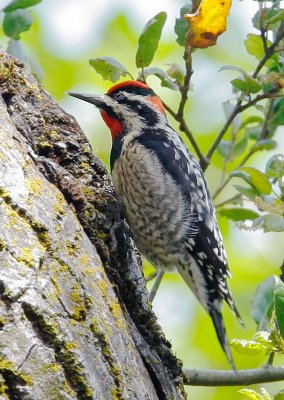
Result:
M126 81L112 86L106 94L68 92L70 96L94 104L101 111L112 139L129 131L166 121L162 101L145 83Z

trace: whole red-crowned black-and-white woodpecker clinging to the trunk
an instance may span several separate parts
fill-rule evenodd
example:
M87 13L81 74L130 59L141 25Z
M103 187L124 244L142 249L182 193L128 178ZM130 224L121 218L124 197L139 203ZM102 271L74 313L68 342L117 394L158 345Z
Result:
M104 95L68 94L98 107L110 129L114 189L137 248L158 271L178 271L210 315L234 368L223 301L243 323L227 285L215 209L200 165L169 125L162 101L139 81L118 83Z

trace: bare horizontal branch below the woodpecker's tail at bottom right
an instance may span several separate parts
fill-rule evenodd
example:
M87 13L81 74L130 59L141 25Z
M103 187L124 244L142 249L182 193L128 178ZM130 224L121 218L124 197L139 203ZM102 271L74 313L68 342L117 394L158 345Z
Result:
M284 379L284 366L237 371L184 369L184 384L190 386L247 386Z

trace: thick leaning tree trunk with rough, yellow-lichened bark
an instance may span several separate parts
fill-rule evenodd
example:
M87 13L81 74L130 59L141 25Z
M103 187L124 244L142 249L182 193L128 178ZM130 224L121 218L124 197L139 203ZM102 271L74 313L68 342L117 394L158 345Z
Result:
M0 399L183 399L105 167L0 51Z

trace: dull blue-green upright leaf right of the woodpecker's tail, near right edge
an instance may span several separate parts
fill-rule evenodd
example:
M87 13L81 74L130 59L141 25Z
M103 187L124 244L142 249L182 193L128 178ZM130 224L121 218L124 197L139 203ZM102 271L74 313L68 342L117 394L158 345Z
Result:
M255 292L251 304L251 315L257 323L258 330L267 328L274 309L274 291L281 280L277 276L269 276L261 282Z

